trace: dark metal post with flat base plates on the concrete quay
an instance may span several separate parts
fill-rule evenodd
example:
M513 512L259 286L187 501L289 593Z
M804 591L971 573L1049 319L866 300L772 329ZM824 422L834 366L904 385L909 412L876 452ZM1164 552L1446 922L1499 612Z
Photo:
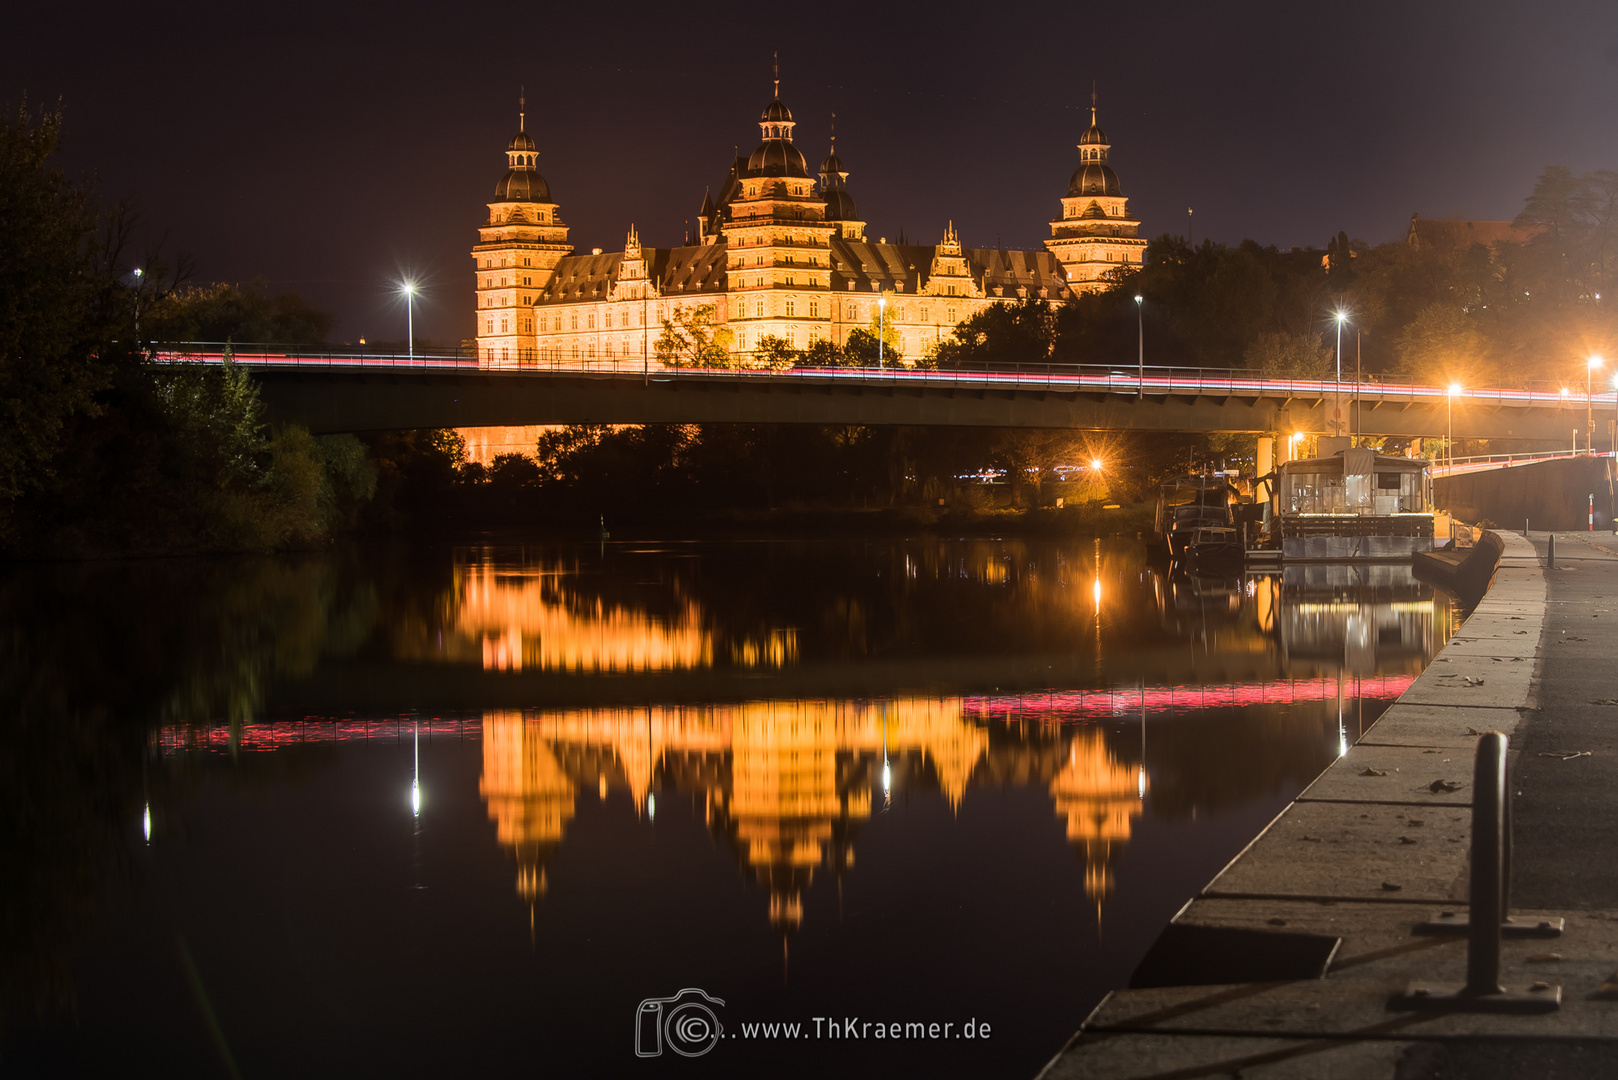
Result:
M1535 983L1526 991L1500 984L1500 936L1557 936L1563 920L1511 920L1511 792L1506 776L1506 737L1489 732L1477 740L1472 761L1472 848L1466 918L1438 918L1416 933L1466 933L1466 983L1411 983L1391 1009L1451 1012L1552 1012L1561 1007L1561 986Z

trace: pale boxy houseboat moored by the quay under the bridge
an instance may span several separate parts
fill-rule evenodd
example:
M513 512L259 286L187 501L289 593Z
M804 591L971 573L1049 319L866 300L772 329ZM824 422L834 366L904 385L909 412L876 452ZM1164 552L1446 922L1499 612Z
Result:
M1283 562L1409 560L1432 538L1432 461L1351 449L1275 471L1265 546Z

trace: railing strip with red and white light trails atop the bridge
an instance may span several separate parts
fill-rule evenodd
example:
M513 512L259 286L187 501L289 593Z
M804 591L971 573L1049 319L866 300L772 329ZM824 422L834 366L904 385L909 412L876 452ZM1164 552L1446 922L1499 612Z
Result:
M935 389L1006 389L1006 390L1066 390L1103 392L1150 397L1296 397L1319 400L1341 395L1345 405L1445 402L1445 387L1335 379L1265 379L1257 372L1233 368L1180 368L1147 366L1144 376L1137 366L1118 364L1053 364L1053 363L993 363L984 366L924 369L924 368L767 368L752 355L736 355L736 361L723 368L671 366L662 361L633 358L581 358L560 356L524 358L516 361L490 361L479 358L476 350L434 350L400 353L396 350L369 351L362 348L299 348L269 343L227 345L223 342L175 342L150 347L159 363L220 363L225 355L235 363L251 368L320 368L320 369L416 369L443 372L557 374L592 376L608 379L770 379L798 382L858 382L892 384ZM1532 405L1576 410L1581 406L1618 408L1618 392L1607 390L1589 398L1569 393L1555 382L1524 382L1508 387L1461 389L1453 397L1456 408L1466 405Z

